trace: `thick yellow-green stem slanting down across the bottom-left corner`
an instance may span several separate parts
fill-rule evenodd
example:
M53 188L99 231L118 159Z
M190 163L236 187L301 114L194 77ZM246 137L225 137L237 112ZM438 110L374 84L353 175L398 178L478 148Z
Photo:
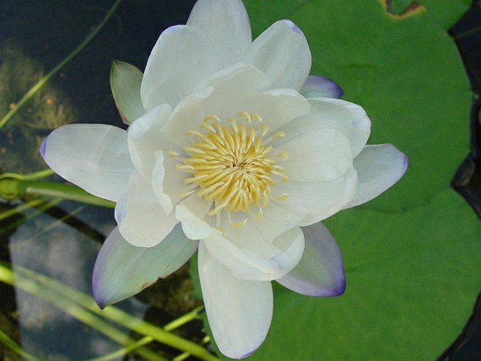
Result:
M0 271L2 268L8 268L8 264L0 261ZM32 270L20 266L15 267L15 275L22 275L25 278L32 279L37 284L41 284L43 289L52 289L55 291L55 293L61 295L62 297L70 299L71 303L77 303L79 306L85 308L91 313L101 315L108 320L117 322L118 324L121 324L122 326L129 328L138 334L152 336L155 341L190 353L190 355L194 355L201 360L219 361L217 357L209 353L209 351L202 346L197 345L197 343L183 339L176 334L171 334L171 332L166 331L166 329L157 327L149 322L139 320L137 317L134 317L133 315L130 315L119 308L108 306L104 310L100 310L91 296L62 284L61 282L52 280L45 275L35 273ZM197 318L199 311L200 308L196 308L195 310L192 310L192 312L180 317L178 320L170 322L166 326L169 327L170 330L173 329L174 326L180 327L180 325Z

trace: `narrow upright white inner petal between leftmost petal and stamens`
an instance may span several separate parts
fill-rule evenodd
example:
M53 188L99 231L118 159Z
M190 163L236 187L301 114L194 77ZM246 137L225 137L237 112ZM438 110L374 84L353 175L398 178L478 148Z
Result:
M169 119L170 114L171 107L169 105L159 105L145 113L129 127L128 140L132 162L147 180L152 178L152 169L155 164L154 153L161 149L160 129Z

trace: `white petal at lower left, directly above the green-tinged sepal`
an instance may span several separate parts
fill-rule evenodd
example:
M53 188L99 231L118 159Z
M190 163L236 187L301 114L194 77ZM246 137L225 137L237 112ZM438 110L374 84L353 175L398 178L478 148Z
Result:
M122 237L137 247L154 247L178 223L173 213L166 216L150 182L137 171L129 182L124 211L116 211L116 219Z

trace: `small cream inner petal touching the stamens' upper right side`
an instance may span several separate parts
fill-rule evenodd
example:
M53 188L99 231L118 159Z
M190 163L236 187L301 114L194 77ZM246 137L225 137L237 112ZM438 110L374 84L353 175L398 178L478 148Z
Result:
M246 111L260 115L270 131L307 114L310 104L294 89L254 93L246 100Z

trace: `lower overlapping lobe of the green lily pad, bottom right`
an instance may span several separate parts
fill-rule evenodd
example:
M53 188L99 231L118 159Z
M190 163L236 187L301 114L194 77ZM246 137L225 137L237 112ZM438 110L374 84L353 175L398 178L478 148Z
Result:
M278 290L268 339L249 360L435 360L479 291L481 227L464 200L447 189L405 214L353 209L327 225L345 294Z

